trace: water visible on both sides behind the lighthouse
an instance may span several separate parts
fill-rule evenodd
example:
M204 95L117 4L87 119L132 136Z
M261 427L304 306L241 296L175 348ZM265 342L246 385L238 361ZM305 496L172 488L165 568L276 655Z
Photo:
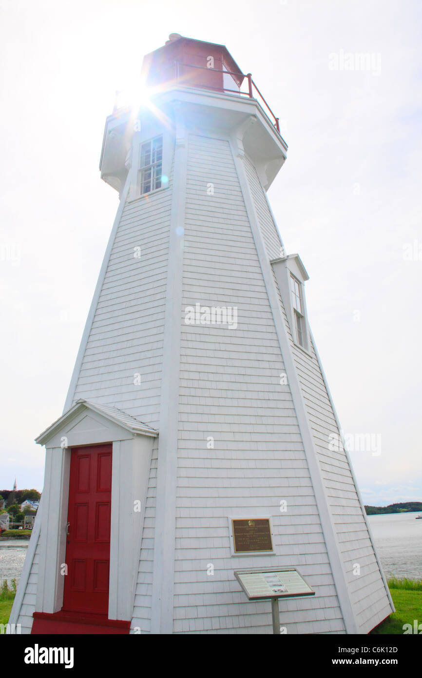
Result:
M368 516L375 547L386 577L422 579L422 520L419 513ZM0 580L18 582L29 540L0 542Z

